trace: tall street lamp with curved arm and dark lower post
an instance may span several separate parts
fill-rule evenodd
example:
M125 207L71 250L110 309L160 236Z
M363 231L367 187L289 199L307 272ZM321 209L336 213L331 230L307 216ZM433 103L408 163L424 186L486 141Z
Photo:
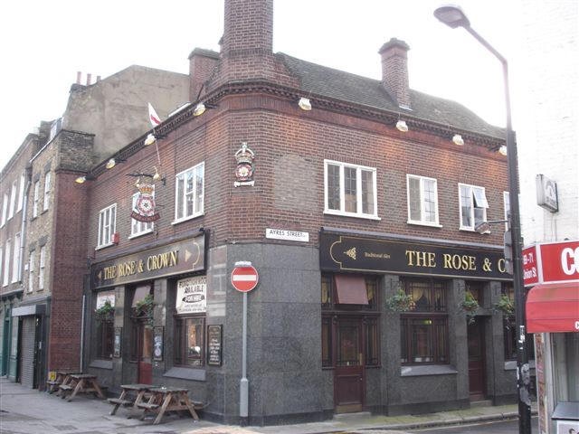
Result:
M505 102L507 109L507 164L508 189L510 198L510 231L513 250L513 287L515 289L515 322L517 325L517 391L518 391L518 432L531 432L531 401L529 399L529 369L527 343L525 340L525 292L523 285L523 240L521 237L521 222L518 209L518 174L517 174L517 144L513 134L510 118L510 97L508 93L508 62L489 42L470 27L470 21L460 7L454 5L441 6L434 11L434 16L442 23L455 29L462 27L479 41L489 52L500 61L503 67L505 84Z

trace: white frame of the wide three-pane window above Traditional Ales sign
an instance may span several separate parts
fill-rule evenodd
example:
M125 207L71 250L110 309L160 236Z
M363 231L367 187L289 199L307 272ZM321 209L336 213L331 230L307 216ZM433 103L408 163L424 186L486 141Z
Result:
M340 205L339 210L331 209L329 207L329 194L328 194L328 184L327 184L327 173L328 166L335 165L339 168L339 198ZM346 186L345 186L345 169L356 169L356 212L347 212L346 210ZM374 203L373 212L367 213L363 212L363 192L362 192L362 172L370 172L372 175L372 187L373 194L372 200ZM324 160L324 213L333 215L343 215L347 217L358 217L364 219L381 220L378 217L378 189L376 182L376 168L368 167L366 165L352 165L349 163L342 163L335 160Z

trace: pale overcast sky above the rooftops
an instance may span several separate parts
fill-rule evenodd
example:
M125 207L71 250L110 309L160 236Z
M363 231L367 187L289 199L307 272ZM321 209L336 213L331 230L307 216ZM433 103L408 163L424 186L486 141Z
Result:
M517 128L519 0L455 0L508 58ZM469 33L436 20L435 0L274 0L273 50L380 79L378 49L410 45L414 90L454 99L505 124L500 63ZM0 167L41 120L62 116L77 71L102 79L130 65L188 72L195 48L219 50L223 0L19 0L0 18ZM147 108L143 108L147 117Z

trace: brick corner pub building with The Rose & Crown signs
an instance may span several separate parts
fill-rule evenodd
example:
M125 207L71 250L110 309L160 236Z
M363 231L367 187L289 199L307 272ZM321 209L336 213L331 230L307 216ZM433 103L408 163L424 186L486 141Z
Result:
M191 53L191 104L76 186L84 368L113 392L185 386L227 423L514 401L502 227L475 231L508 209L503 131L409 89L405 42L366 79L273 53L272 14L226 0L221 52ZM239 261L259 272L247 417Z

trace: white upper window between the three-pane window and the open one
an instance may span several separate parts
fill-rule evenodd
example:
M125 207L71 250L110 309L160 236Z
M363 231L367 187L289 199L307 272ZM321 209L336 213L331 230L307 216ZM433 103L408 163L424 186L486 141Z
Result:
M408 222L438 225L438 192L436 179L406 175Z

